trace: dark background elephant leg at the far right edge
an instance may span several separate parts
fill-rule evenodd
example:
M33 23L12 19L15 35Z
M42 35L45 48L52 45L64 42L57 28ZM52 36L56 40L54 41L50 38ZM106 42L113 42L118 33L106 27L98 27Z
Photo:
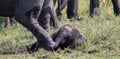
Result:
M120 0L111 0L113 4L114 14L116 16L120 15Z

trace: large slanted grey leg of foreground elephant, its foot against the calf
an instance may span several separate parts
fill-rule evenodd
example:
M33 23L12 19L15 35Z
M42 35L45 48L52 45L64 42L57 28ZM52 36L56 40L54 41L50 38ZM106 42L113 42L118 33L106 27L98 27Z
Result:
M31 3L32 1L32 3ZM41 13L44 0L19 0L15 9L15 19L21 23L24 27L32 32L36 37L36 44L34 48L30 48L31 51L37 51L38 48L44 48L45 50L52 50L55 42L50 37L49 33L45 31L38 22L38 17ZM26 3L25 3L26 2ZM30 4L28 4L30 3ZM27 5L28 4L28 5ZM23 7L24 6L24 7Z

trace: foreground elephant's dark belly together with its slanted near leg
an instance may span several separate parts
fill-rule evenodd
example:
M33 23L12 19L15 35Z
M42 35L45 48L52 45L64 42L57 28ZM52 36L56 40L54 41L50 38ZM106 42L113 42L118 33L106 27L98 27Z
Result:
M38 22L45 0L1 0L0 16L14 16L16 21L30 30L36 37L37 42L33 51L38 48L51 50L55 45L49 33L45 31ZM31 46L32 47L32 46ZM30 48L31 49L31 48Z

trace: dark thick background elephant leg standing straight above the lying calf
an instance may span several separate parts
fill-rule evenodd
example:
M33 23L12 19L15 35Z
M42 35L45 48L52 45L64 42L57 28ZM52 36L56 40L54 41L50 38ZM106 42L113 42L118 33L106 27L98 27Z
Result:
M81 20L78 16L78 0L68 0L67 17L71 20Z

